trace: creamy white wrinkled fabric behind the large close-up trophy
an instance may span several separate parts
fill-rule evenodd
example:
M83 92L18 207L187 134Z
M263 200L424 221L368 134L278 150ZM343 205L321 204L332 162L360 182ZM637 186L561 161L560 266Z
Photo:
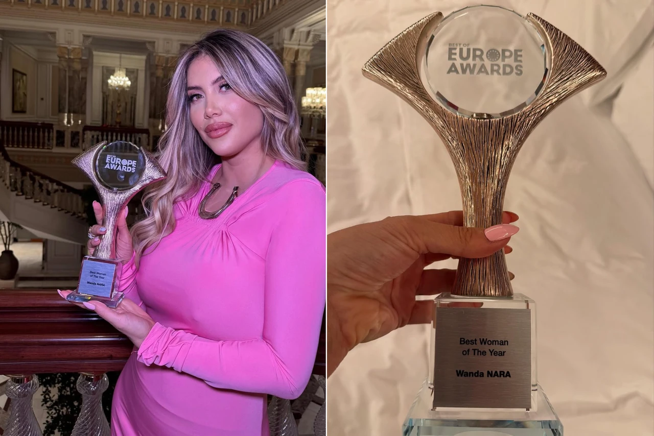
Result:
M460 0L328 0L328 231L460 209L430 126L361 67ZM538 307L538 378L566 435L645 436L654 414L654 55L651 0L490 1L534 12L608 71L526 141L505 209L515 292ZM439 267L453 267L442 263ZM427 374L428 327L357 346L328 379L330 435L399 435Z

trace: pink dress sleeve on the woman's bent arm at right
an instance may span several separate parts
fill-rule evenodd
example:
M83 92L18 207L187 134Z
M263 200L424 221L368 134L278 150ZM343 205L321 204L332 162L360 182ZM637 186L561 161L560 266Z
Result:
M311 377L325 305L325 193L317 182L299 180L271 201L284 212L266 254L262 337L213 341L157 323L139 348L139 361L216 388L300 396Z

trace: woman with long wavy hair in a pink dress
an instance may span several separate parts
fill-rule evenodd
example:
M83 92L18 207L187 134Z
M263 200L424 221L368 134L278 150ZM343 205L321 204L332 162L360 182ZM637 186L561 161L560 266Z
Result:
M266 394L298 397L316 356L324 188L304 171L283 67L246 33L218 29L184 52L167 126L167 179L144 195L144 220L118 222L127 298L84 303L135 345L112 434L267 435ZM105 229L90 233L94 248Z

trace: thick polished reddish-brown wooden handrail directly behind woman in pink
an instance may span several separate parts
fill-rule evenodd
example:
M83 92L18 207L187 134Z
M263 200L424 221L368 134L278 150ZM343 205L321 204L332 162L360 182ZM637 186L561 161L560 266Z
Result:
M313 373L325 375L325 324ZM0 290L0 374L120 371L129 339L55 290Z

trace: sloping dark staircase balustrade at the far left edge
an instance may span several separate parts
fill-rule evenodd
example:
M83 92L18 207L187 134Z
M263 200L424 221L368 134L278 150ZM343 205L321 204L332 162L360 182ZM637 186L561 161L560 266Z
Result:
M0 139L0 220L38 237L86 244L86 212L79 190L13 161Z

